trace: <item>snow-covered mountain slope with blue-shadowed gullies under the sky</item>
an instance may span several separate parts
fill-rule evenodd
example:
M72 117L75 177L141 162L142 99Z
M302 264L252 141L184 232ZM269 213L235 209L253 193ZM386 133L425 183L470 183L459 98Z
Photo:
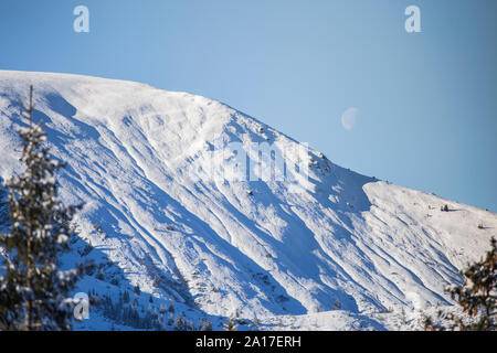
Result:
M172 300L187 317L236 312L262 329L388 329L379 313L448 304L444 286L496 235L495 213L360 175L311 149L298 192L274 178L194 173L233 165L241 151L253 161L254 143L276 153L299 145L212 99L87 76L0 71L4 180L22 168L19 98L30 85L51 151L67 162L61 196L85 204L66 261L102 264L80 290L117 298L139 286L140 298ZM106 324L95 311L80 328Z

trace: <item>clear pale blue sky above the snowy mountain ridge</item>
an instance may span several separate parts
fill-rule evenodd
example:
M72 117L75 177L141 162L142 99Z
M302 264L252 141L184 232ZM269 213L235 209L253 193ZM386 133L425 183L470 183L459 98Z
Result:
M496 36L495 0L0 1L1 69L214 98L342 167L494 212Z

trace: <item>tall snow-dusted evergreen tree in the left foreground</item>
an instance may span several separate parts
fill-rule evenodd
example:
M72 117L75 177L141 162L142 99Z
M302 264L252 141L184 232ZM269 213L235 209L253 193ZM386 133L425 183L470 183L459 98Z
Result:
M68 250L70 222L77 207L57 201L55 171L62 167L44 147L41 122L33 122L30 104L22 103L28 128L22 138L25 170L7 182L10 233L0 234L0 329L71 329L73 289L81 269L59 270L60 255Z

